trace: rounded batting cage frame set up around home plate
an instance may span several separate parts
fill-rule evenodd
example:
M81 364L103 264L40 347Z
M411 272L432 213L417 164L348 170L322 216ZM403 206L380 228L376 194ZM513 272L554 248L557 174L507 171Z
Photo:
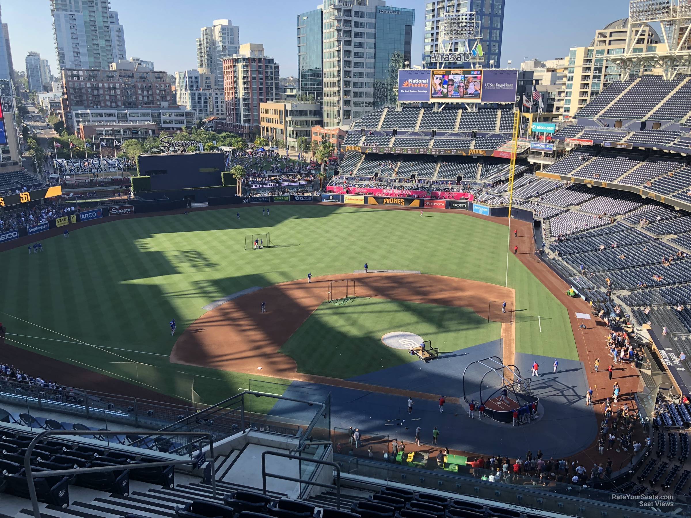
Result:
M526 405L539 401L531 394L530 379L522 378L515 365L504 365L499 356L468 363L463 371L463 399L475 402L476 408L484 405L484 414L500 423L511 423L513 410L526 410ZM534 416L529 410L522 412L525 423Z

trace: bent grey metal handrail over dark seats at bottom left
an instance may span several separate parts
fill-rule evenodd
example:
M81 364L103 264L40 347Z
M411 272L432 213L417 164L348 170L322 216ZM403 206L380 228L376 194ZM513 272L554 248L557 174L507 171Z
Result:
M111 430L99 430L100 435L126 435L126 431L111 431ZM211 490L214 498L216 497L216 466L214 466L214 437L210 432L177 432L178 435L204 435L209 439L209 454L211 455ZM50 471L39 471L32 472L31 470L31 454L34 451L37 443L49 435L93 435L93 430L44 430L39 433L36 437L32 439L26 448L26 453L24 454L24 474L26 476L26 482L29 487L29 497L31 499L31 507L34 512L34 518L41 518L41 510L39 509L39 501L36 496L36 486L34 484L34 479L40 479L45 477L57 477L64 476L68 474L84 474L84 473L99 473L108 471L119 471L119 470L132 470L139 468L158 468L163 466L178 466L180 464L189 464L193 459L175 460L175 461L160 461L160 462L145 462L142 464L123 464L118 466L103 466L100 468L77 468L70 470L50 470Z

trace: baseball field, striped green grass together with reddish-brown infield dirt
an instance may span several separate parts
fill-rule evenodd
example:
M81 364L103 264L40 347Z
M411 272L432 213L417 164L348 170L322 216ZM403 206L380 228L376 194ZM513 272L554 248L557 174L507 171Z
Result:
M0 253L6 342L211 404L249 379L347 379L415 361L381 342L401 329L442 354L505 338L486 308L513 297L515 353L578 360L567 310L513 253L504 289L504 225L366 207L262 209L111 221L48 238L42 253ZM263 232L273 246L245 250L245 236ZM354 273L366 262L370 273ZM327 303L337 278L354 279L358 297Z

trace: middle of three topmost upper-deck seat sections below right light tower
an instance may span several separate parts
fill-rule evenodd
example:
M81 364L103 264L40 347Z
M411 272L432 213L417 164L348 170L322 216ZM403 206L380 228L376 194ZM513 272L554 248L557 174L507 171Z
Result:
M627 93L607 108L600 117L612 119L640 119L679 85L681 79L665 81L659 75L638 78ZM606 90L606 89L605 89ZM598 96L599 97L599 96Z

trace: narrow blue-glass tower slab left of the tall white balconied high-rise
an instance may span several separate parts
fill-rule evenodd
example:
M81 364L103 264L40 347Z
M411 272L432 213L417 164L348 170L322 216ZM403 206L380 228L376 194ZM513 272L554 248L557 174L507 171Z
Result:
M298 90L301 95L324 98L321 8L298 15Z

